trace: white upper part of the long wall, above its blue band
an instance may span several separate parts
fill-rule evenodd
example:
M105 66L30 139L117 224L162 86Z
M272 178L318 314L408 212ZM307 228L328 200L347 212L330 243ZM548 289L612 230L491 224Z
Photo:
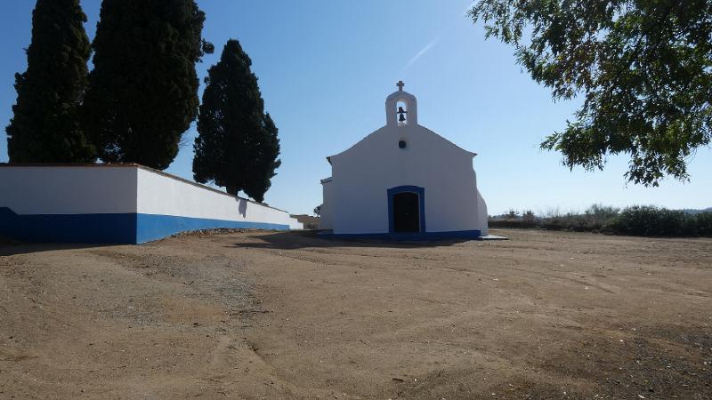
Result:
M136 165L6 165L0 183L0 207L18 214L138 212L303 228L288 212Z

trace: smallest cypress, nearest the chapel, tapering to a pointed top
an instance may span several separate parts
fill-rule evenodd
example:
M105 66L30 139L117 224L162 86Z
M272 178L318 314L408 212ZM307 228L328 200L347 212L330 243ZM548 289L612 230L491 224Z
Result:
M213 181L231 195L243 190L262 202L281 162L277 126L264 114L251 66L239 42L230 40L220 61L208 71L193 174L198 182Z

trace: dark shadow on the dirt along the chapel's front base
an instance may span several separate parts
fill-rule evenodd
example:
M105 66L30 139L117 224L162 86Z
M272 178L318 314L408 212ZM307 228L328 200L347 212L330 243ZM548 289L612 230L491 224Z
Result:
M314 230L270 232L263 235L250 236L260 239L262 243L236 243L234 247L253 249L295 250L307 247L392 247L392 248L427 248L450 246L476 239L435 239L435 240L387 240L323 236Z

